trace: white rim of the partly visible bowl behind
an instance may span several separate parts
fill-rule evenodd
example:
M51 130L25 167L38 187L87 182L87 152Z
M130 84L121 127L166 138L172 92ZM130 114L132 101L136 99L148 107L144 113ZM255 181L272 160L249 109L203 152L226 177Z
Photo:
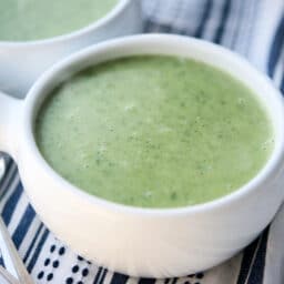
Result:
M1 47L7 47L7 48L23 48L23 47L33 47L33 45L40 45L40 44L52 44L55 42L61 42L61 41L68 41L68 40L73 40L78 37L85 36L90 33L93 30L100 29L103 26L108 24L110 21L112 21L114 18L120 16L120 13L132 2L135 0L118 0L116 4L114 4L109 12L106 12L103 17L100 19L88 23L83 28L75 29L71 32L67 32L60 36L55 37L50 37L50 38L43 38L39 40L27 40L27 41L1 41L0 40L0 48Z

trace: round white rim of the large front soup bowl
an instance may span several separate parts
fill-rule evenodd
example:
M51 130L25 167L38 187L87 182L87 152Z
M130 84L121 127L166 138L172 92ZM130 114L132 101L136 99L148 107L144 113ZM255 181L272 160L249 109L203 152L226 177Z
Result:
M44 158L40 153L40 150L37 146L36 139L33 136L33 122L34 122L34 115L36 115L34 110L37 109L37 104L39 103L39 98L42 98L41 95L42 91L50 82L54 81L57 74L60 74L61 72L67 71L72 64L78 64L78 63L80 64L80 62L83 61L84 59L88 59L89 57L94 57L94 54L98 52L109 53L110 50L115 49L116 47L123 47L123 45L125 47L125 44L131 45L131 44L139 44L141 42L145 43L151 41L166 42L171 40L176 41L176 44L178 42L183 41L185 44L197 44L200 47L203 47L206 50L212 50L212 52L222 52L222 54L225 55L224 58L226 59L231 58L235 62L239 62L242 65L242 68L250 69L250 72L254 73L254 75L257 77L258 81L262 81L271 89L271 92L273 92L273 97L275 98L277 103L280 103L282 120L280 120L281 125L278 128L281 129L282 126L282 129L284 129L283 97L281 95L280 91L273 87L272 81L266 75L262 74L255 68L253 68L251 63L246 61L244 58L242 58L241 55L223 47L220 47L217 44L214 44L204 40L189 38L184 36L175 36L175 34L170 36L170 34L152 33L152 34L129 36L120 39L109 40L106 42L102 42L93 47L89 47L84 50L81 50L70 55L69 58L64 59L63 61L57 63L55 65L53 65L51 69L44 72L41 75L41 78L33 84L33 87L30 89L27 95L27 99L24 100L24 111L23 111L22 122L23 122L24 135L27 139L27 141L24 142L26 149L29 150L29 154L33 155L34 161L38 163L38 165L41 166L44 173L48 174L51 180L60 184L60 186L63 190L71 191L78 197L83 199L90 204L104 207L109 211L115 211L119 213L125 213L125 214L132 214L132 215L134 214L134 215L142 215L142 216L162 216L163 217L163 216L173 216L173 215L189 215L189 214L212 211L215 209L220 209L222 206L230 206L234 202L237 202L243 197L247 196L250 193L255 193L255 191L260 189L261 185L265 184L267 180L274 179L274 176L277 174L278 169L283 164L283 160L284 160L284 131L278 132L277 140L280 141L277 143L275 142L275 146L267 162L257 172L257 174L253 179L251 179L247 183L245 183L243 186L239 187L237 190L226 195L214 199L212 201L194 204L194 205L180 206L180 207L132 206L132 205L115 203L99 196L91 195L85 191L80 190L80 187L73 185L71 182L67 181L64 178L58 174L44 160ZM160 43L160 44L163 44L163 43ZM142 53L136 53L136 54L142 54ZM121 57L118 57L118 58L121 58ZM102 60L102 62L103 61L105 60ZM95 65L95 63L93 63L93 65ZM71 77L73 73L71 73ZM68 75L68 78L69 77L70 75ZM43 95L42 101L44 100L44 98L45 98L45 94ZM40 104L42 102L40 102Z

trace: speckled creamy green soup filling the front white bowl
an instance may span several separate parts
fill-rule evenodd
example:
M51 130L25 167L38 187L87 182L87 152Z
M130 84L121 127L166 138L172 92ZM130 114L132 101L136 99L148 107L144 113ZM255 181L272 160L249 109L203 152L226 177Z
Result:
M36 121L38 146L90 194L143 207L212 201L267 161L273 126L229 74L187 59L141 55L60 85Z

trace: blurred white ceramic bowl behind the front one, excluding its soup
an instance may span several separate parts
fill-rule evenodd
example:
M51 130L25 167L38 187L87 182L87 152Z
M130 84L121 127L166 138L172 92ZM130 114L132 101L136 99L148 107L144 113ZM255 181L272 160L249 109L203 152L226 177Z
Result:
M74 51L103 40L142 31L139 0L119 0L100 20L60 37L26 41L0 41L0 90L23 98L49 67Z

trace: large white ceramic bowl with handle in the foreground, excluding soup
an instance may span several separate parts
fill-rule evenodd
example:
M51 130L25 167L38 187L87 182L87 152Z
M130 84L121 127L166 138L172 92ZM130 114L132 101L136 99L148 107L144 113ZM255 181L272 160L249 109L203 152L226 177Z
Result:
M34 142L33 122L40 105L57 85L80 70L133 54L191 58L247 85L267 109L275 132L275 146L258 174L230 195L180 209L115 204L89 195L57 174ZM17 161L36 211L75 252L110 270L146 277L206 270L252 242L283 201L283 99L272 82L244 59L212 43L161 34L111 40L52 67L33 84L26 100L1 94L0 104L0 150Z

